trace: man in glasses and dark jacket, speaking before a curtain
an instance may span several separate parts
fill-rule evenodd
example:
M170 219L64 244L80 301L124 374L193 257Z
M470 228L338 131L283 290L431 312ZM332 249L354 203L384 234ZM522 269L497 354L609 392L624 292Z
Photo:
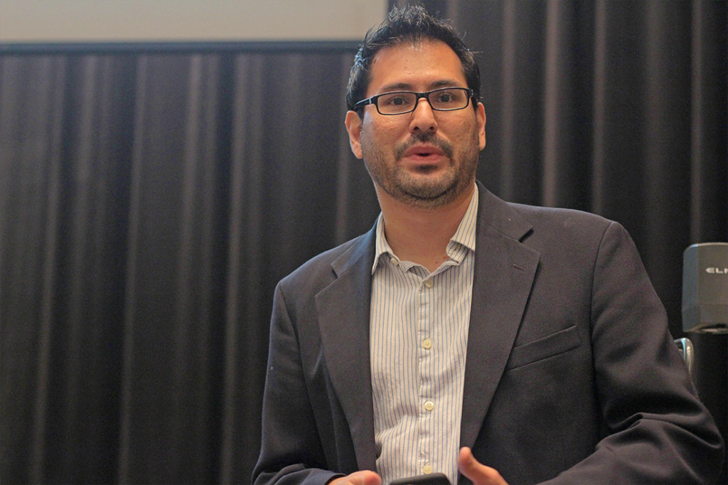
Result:
M352 151L381 215L277 287L256 483L687 483L719 473L628 234L476 183L471 52L422 8L369 33Z

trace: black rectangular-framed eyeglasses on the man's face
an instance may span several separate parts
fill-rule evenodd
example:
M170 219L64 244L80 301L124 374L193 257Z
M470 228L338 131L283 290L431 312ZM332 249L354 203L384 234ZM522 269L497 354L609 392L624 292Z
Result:
M427 92L384 92L384 94L360 100L354 105L354 108L373 104L379 114L405 114L416 109L420 98L425 98L435 111L454 111L467 108L470 98L472 98L472 90L467 87L440 87Z

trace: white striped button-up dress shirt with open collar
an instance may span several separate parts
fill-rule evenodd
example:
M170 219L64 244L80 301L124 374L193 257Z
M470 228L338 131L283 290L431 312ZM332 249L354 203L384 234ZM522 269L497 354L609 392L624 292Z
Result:
M395 478L445 473L457 482L478 190L429 272L401 261L377 221L372 267L371 377L377 470Z

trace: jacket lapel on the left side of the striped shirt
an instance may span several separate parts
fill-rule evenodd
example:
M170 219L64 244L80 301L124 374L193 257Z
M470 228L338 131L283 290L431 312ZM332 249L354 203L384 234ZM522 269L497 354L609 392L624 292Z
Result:
M331 384L349 423L357 465L376 470L369 351L374 231L333 262L336 280L315 296Z

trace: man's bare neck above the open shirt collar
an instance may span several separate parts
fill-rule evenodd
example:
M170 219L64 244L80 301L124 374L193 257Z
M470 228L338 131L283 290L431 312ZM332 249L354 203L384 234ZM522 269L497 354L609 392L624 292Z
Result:
M470 191L449 205L436 209L414 208L380 194L384 234L392 251L403 261L422 264L430 272L448 259L448 243L472 200Z

